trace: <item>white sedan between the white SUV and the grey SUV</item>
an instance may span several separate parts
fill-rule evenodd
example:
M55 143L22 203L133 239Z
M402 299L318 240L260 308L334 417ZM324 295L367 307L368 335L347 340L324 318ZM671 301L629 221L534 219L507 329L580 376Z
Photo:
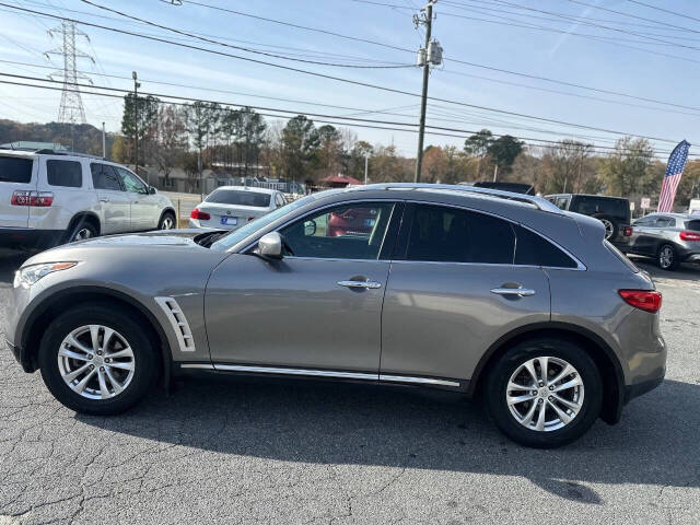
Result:
M192 210L190 228L235 230L287 203L276 189L250 186L221 186Z

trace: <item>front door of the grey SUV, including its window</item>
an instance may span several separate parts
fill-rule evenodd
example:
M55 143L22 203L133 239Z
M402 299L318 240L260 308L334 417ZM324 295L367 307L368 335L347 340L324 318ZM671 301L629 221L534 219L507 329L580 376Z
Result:
M388 201L325 208L280 230L281 260L248 253L219 265L205 299L214 365L376 375L394 208ZM360 217L351 231L332 228Z

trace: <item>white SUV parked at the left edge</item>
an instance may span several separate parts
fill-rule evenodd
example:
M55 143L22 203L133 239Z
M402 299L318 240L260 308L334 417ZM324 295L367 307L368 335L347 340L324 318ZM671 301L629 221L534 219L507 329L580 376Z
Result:
M119 164L50 150L0 150L0 246L47 248L171 228L171 200Z

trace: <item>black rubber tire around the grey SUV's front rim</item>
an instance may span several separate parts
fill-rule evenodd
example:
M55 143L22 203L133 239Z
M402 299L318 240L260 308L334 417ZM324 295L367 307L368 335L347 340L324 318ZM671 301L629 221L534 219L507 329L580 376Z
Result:
M133 376L114 397L88 399L73 392L61 376L58 365L61 342L68 334L84 325L103 325L117 330L133 352ZM128 410L149 392L158 376L156 351L154 341L148 337L148 327L119 307L95 303L71 308L51 322L39 345L38 363L44 383L62 405L81 413L112 416Z

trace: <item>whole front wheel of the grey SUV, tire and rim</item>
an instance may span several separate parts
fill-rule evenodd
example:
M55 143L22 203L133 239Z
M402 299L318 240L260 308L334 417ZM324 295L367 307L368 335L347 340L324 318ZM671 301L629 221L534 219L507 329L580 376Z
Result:
M120 413L141 400L156 374L145 334L119 308L91 304L69 310L42 338L38 362L44 383L77 412Z

